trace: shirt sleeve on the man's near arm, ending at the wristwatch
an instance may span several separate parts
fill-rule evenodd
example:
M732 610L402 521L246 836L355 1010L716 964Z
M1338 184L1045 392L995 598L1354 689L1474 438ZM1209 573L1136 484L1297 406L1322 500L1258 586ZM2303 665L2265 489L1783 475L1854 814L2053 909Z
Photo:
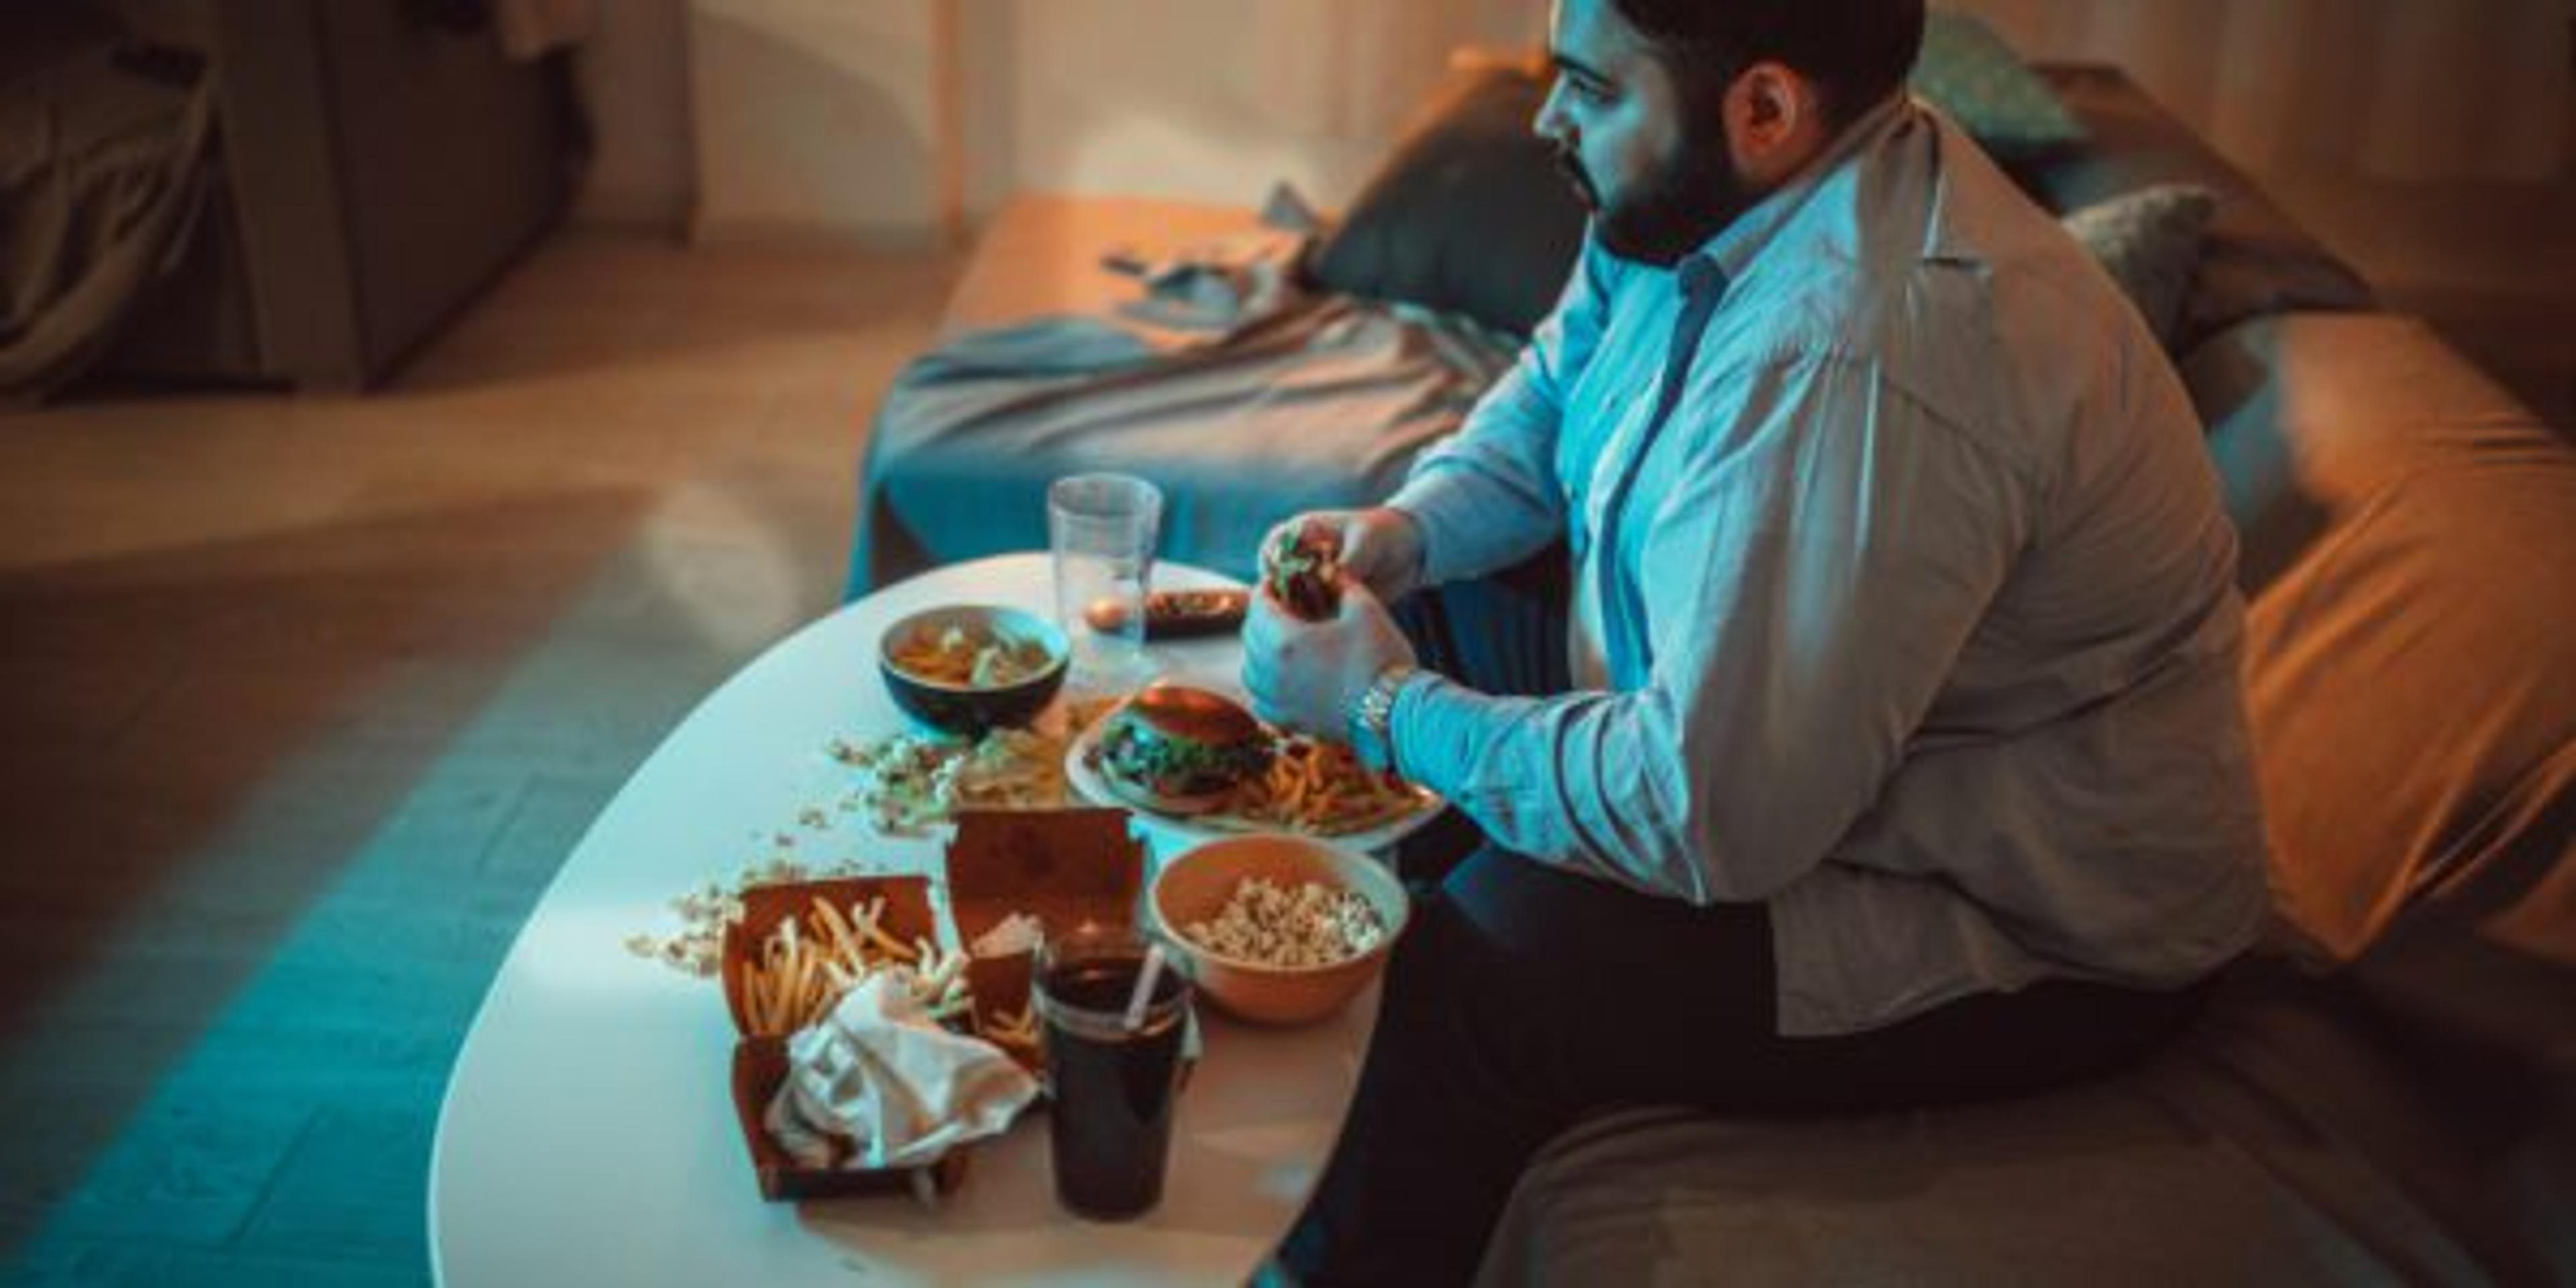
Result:
M1744 402L1633 497L1641 688L1419 677L1394 711L1399 768L1497 845L1698 904L1767 899L1832 853L2032 528L2022 474L1870 363L1772 361L1728 386Z

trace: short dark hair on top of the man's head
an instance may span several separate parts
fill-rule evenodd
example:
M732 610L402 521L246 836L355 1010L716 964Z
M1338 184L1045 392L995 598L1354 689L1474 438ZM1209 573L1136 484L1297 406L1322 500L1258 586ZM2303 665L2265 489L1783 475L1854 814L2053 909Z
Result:
M1757 62L1783 62L1816 82L1837 129L1904 85L1924 44L1924 0L1610 3L1692 98L1713 98Z

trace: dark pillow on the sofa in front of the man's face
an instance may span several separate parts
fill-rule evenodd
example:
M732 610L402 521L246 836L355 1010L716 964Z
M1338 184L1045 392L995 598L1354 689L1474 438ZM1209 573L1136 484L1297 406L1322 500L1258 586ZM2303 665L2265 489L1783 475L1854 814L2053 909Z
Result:
M1546 82L1455 77L1386 157L1311 260L1314 281L1528 335L1584 240L1584 206L1530 131Z

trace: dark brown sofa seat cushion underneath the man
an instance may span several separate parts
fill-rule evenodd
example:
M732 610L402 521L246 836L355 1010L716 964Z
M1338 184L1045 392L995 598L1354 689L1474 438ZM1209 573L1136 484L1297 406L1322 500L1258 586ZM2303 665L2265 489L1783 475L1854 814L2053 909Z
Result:
M2460 1103L2339 989L2241 963L2174 1051L2094 1084L1595 1118L1533 1159L1479 1283L2555 1283L2566 1123Z

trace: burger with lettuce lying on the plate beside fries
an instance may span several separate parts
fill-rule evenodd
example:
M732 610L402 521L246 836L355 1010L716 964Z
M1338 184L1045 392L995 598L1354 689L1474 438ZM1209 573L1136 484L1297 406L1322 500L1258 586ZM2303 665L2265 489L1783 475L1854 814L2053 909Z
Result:
M1206 814L1270 770L1270 732L1221 693L1154 683L1100 726L1100 778L1162 814Z

